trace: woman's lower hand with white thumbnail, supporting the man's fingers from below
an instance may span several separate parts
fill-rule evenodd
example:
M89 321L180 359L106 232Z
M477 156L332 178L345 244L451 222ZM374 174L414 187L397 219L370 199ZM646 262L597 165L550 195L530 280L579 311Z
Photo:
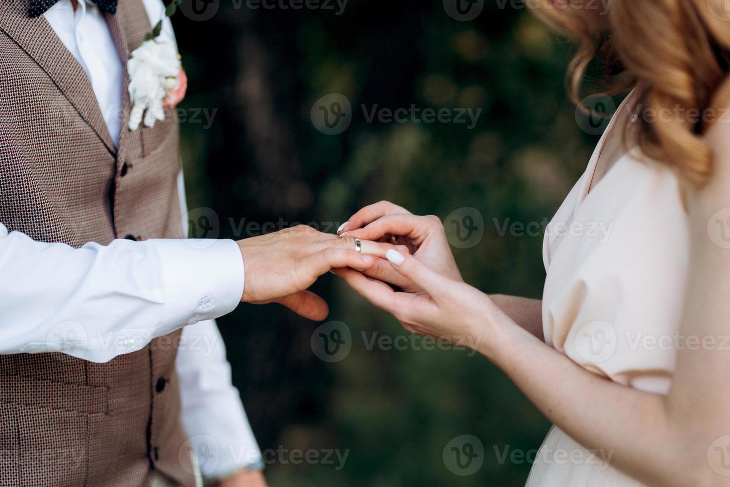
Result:
M353 269L337 269L360 295L398 319L409 332L457 345L480 348L486 325L499 308L479 289L431 270L418 258L395 250L386 252L393 272L423 292L396 292L387 284Z

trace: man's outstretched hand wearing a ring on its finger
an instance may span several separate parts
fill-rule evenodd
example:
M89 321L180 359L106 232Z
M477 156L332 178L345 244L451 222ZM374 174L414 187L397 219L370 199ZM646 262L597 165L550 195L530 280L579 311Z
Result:
M238 242L245 265L241 300L246 303L281 303L305 318L323 320L328 306L307 291L323 273L333 268L367 270L374 257L388 249L407 252L402 246L362 241L356 252L355 239L319 232L299 225Z

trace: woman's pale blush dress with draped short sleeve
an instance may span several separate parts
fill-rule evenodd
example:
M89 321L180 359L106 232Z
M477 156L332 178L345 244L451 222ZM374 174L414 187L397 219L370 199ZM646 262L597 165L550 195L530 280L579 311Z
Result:
M591 187L606 138L621 136L611 125L545 235L545 341L596 374L666 394L688 267L687 217L677 176L639 160L636 149ZM591 453L553 426L527 486L641 485Z

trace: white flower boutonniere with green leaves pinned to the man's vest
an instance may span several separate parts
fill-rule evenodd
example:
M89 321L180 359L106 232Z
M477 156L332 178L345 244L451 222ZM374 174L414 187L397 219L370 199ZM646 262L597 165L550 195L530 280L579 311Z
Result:
M180 1L172 0L165 8L166 17L177 11ZM180 87L179 75L183 65L174 44L160 38L162 20L145 35L144 42L131 52L127 61L132 103L129 130L137 130L141 122L145 127L154 127L156 121L165 120L164 101Z

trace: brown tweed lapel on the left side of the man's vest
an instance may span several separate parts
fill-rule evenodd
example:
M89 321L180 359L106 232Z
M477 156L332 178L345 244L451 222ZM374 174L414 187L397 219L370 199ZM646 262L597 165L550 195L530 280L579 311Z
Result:
M0 8L0 30L23 49L61 90L83 120L112 154L114 142L107 130L91 82L74 55L42 15L30 18L26 0L10 0Z

